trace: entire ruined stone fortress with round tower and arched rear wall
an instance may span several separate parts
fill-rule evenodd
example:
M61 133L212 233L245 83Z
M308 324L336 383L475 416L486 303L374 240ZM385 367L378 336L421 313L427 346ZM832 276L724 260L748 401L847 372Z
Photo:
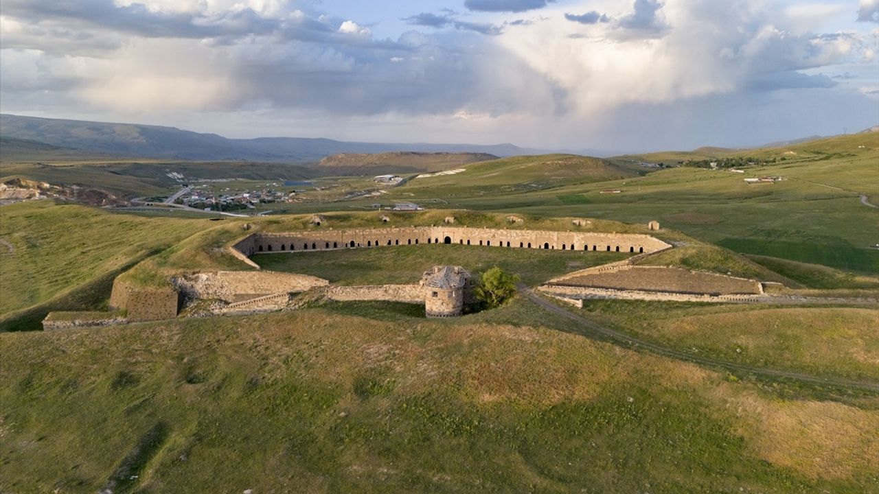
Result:
M313 226L326 224L323 217L316 217L319 220L313 221ZM577 222L575 220L575 224ZM754 301L755 297L764 295L762 286L755 280L681 268L633 265L639 258L672 249L671 244L650 235L468 228L451 223L430 227L331 229L324 226L283 233L256 231L227 249L258 271L183 273L173 277L167 287L153 288L131 287L120 277L113 284L110 307L117 313L124 312L127 322L169 319L179 316L181 309L188 316L192 315L189 309L195 306L201 315L249 314L296 309L314 300L417 303L424 304L428 317L461 316L465 305L474 301L470 273L461 266L433 266L417 284L349 287L331 285L328 280L314 276L266 272L259 270L251 259L257 255L307 255L316 251L422 244L633 254L617 263L548 280L538 288L550 296L578 303L590 298ZM658 223L650 222L649 229L658 230ZM54 325L57 319L57 316L47 318L44 327L69 327Z

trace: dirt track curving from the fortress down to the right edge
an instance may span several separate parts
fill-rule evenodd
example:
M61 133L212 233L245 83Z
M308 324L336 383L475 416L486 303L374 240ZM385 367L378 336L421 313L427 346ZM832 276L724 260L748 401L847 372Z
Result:
M724 360L715 360L708 359L705 357L698 357L686 352L680 352L678 350L674 350L667 346L657 345L655 343L651 343L649 341L645 341L640 338L634 338L629 336L628 334L621 333L620 331L615 331L610 328L607 328L599 323L594 321L590 321L583 316L578 314L574 314L570 312L570 310L563 309L562 307L557 306L555 303L548 301L542 298L540 295L535 294L530 288L525 287L524 285L519 285L519 293L522 294L529 301L534 302L536 305L541 307L541 309L548 310L557 316L563 316L571 321L576 323L580 323L589 331L593 331L599 333L607 338L612 339L616 343L627 343L628 345L635 345L637 347L643 348L645 350L649 350L650 352L657 353L659 355L663 355L665 357L670 357L676 360L686 360L689 362L694 362L696 364L708 366L708 367L723 367L725 369L734 370L734 371L744 371L752 374L761 374L768 375L773 377L786 377L789 379L795 379L797 381L807 381L807 382L816 382L818 384L828 384L832 386L842 386L846 388L859 388L859 389L868 389L871 391L879 391L879 383L877 382L868 382L868 381L848 381L845 379L825 379L822 377L817 377L815 375L810 374L801 374L795 372L787 372L775 369L767 369L763 367L751 367L745 366L742 364L737 364L734 362L727 362ZM589 336L588 331L584 331L585 336Z

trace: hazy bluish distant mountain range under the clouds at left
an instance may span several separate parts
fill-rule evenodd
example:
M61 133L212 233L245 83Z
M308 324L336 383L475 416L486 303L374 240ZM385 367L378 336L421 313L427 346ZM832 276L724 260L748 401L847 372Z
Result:
M217 134L200 134L175 127L40 119L0 114L0 136L7 139L42 142L112 156L172 158L196 161L312 163L341 153L485 153L494 156L538 155L543 149L519 148L513 144L430 144L393 142L341 142L299 137L228 139Z

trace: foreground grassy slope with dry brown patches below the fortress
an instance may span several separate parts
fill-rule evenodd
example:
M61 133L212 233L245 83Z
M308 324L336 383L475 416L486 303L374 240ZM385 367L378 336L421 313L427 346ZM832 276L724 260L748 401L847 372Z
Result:
M876 491L875 397L791 401L528 305L395 317L0 335L0 490Z

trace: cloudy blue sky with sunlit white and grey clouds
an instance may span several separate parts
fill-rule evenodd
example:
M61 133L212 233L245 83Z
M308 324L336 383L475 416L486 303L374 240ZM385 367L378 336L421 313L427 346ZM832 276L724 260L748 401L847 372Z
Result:
M879 0L4 0L0 110L229 137L746 146L879 123Z

